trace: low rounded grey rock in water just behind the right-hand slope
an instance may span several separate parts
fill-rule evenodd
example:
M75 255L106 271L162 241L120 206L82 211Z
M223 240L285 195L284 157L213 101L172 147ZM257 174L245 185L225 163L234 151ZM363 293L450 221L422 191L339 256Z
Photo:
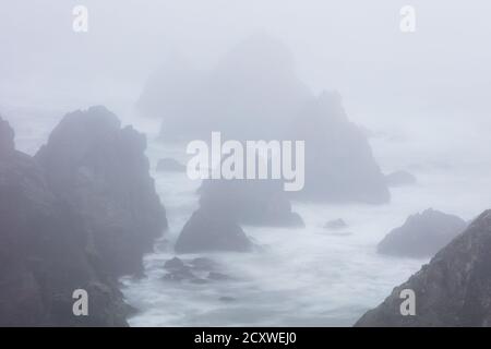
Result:
M430 208L410 216L402 227L392 230L379 243L378 252L410 257L432 256L466 226L466 221L457 216Z

